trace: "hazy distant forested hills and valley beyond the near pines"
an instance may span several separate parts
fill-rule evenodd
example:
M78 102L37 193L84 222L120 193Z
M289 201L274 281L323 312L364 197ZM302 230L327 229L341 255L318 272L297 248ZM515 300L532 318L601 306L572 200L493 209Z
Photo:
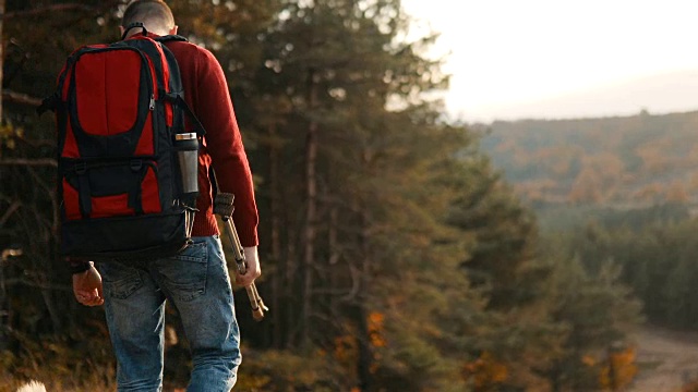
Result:
M616 266L654 323L695 330L698 112L494 122L481 147L541 233L591 270ZM555 233L555 234L552 234ZM562 233L562 234L561 234Z

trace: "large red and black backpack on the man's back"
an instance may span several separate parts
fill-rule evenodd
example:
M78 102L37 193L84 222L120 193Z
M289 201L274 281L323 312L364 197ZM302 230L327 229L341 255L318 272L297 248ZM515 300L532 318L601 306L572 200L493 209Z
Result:
M56 112L62 256L147 260L190 243L196 191L184 188L178 158L195 158L205 132L161 44L185 38L152 39L134 27L143 34L73 52L39 109Z

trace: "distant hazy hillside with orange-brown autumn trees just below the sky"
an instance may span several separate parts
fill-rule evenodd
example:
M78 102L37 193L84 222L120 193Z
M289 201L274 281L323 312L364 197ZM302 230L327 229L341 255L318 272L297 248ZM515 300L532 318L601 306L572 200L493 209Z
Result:
M698 201L698 111L497 121L481 147L534 206Z

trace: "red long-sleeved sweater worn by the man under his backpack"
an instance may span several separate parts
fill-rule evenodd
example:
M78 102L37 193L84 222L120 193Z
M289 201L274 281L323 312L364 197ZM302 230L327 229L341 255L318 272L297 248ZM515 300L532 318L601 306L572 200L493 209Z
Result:
M218 234L213 215L213 193L208 168L213 164L219 192L234 194L236 223L242 246L257 245L257 208L252 173L232 109L228 83L213 53L184 41L168 41L179 63L184 100L206 130L198 155L198 212L192 235Z

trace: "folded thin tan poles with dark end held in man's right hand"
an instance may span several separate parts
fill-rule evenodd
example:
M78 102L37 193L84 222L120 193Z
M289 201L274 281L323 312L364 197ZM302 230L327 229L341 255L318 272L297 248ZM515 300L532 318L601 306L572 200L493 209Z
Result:
M240 274L245 274L248 272L248 264L244 260L244 252L242 250L242 245L238 237L238 231L236 230L236 225L232 223L232 211L234 210L234 207L232 206L233 200L233 194L218 193L214 201L214 213L219 215L225 223L225 232L228 234L228 240L230 240L230 244L232 245L232 255L236 258L238 272L240 272ZM248 292L248 298L252 306L252 317L255 321L262 321L264 313L268 311L269 308L264 305L264 301L262 301L262 297L257 292L256 284L252 282L252 284L245 286L244 290Z

